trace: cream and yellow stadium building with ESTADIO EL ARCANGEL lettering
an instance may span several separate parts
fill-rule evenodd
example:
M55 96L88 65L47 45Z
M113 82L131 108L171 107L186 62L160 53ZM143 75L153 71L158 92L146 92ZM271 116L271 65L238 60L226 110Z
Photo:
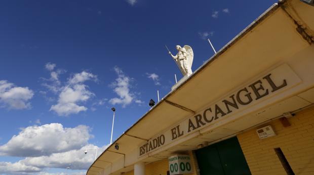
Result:
M313 34L313 6L274 4L126 130L87 175L314 174Z

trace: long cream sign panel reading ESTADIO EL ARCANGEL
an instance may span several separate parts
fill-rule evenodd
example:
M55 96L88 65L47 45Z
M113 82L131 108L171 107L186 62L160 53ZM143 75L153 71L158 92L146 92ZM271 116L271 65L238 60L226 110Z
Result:
M244 84L238 90L212 103L193 116L166 130L166 132L148 140L139 147L139 156L168 145L182 136L194 133L236 112L247 109L263 99L274 97L301 81L287 64L282 64L254 81Z

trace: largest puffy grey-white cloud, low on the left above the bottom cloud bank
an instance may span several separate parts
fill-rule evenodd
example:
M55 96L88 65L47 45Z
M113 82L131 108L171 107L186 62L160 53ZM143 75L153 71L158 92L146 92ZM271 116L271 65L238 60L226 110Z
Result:
M89 127L78 125L74 128L63 127L60 123L42 126L28 126L5 145L0 146L0 155L17 157L34 157L51 155L88 144L93 136Z

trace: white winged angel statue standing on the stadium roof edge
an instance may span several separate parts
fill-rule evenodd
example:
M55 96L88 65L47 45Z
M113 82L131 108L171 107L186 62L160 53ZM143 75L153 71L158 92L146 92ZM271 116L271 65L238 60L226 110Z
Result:
M177 55L173 56L171 52L168 50L169 54L177 63L183 76L191 75L192 74L191 67L192 67L193 56L194 56L192 48L187 45L181 48L181 46L178 45L176 46L176 49L178 50Z

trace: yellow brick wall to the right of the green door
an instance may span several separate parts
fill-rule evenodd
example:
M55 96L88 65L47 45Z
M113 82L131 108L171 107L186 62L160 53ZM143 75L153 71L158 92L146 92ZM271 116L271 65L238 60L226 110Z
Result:
M287 174L274 148L281 148L295 174L314 174L314 107L296 113L283 127L279 119L271 125L277 136L260 140L256 129L238 135L252 174Z

